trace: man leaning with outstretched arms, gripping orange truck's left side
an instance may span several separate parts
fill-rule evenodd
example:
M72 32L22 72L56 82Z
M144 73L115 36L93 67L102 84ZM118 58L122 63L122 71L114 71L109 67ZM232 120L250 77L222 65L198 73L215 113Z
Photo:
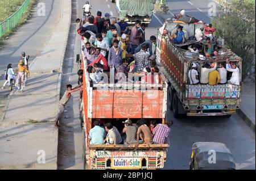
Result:
M71 98L71 93L79 91L81 86L82 85L79 85L79 86L76 86L74 89L72 89L72 85L70 84L67 85L67 90L65 91L63 97L60 99L60 102L59 102L57 116L55 118L55 127L58 127L60 115L61 113L64 112L65 105L68 103L69 99Z

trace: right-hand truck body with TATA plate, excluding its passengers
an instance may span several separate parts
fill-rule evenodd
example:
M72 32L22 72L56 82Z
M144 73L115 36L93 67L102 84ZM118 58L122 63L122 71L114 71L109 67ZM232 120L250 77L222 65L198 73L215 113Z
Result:
M200 28L200 24L180 24L187 31L188 37L195 35L195 30ZM200 68L204 62L213 62L213 60L200 60L195 54L182 49L183 46L198 44L205 48L200 41L193 40L187 44L171 44L167 37L162 37L164 29L173 30L177 23L166 21L158 32L158 45L156 56L160 70L168 79L168 105L174 112L175 117L181 114L187 116L226 116L229 117L240 108L241 102L241 82L240 85L222 84L222 85L191 85L189 84L188 71L192 63L199 65ZM220 41L221 44L223 41ZM236 62L237 67L242 72L242 60L229 49L220 46L220 56L218 62L226 62L226 58ZM241 77L241 75L240 75Z

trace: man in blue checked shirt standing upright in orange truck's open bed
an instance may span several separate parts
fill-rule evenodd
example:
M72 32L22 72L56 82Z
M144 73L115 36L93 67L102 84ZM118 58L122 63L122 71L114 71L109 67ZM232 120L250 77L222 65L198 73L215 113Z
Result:
M113 47L109 49L108 65L109 68L114 68L117 71L119 65L121 65L123 51L118 47L119 41L114 40Z

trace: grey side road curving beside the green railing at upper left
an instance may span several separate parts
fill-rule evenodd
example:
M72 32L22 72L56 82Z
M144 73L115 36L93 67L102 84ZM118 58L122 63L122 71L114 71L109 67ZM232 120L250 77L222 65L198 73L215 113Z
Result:
M59 20L59 8L61 0L43 0L46 7L45 16L38 16L40 7L35 6L32 10L32 18L28 19L13 36L9 37L5 46L0 49L0 87L2 88L3 75L8 64L13 64L15 70L21 57L21 52L30 55L29 63L34 60L39 50L46 46L53 28ZM47 65L46 65L47 66ZM1 76L2 75L2 76ZM29 81L29 79L28 79ZM0 98L9 94L9 89L0 90Z

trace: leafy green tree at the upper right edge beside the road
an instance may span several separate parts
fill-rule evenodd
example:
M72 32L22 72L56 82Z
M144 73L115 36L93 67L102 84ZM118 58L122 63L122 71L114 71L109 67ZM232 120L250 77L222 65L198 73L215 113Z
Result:
M230 0L221 9L225 13L212 23L225 46L242 58L244 79L255 61L255 1Z

